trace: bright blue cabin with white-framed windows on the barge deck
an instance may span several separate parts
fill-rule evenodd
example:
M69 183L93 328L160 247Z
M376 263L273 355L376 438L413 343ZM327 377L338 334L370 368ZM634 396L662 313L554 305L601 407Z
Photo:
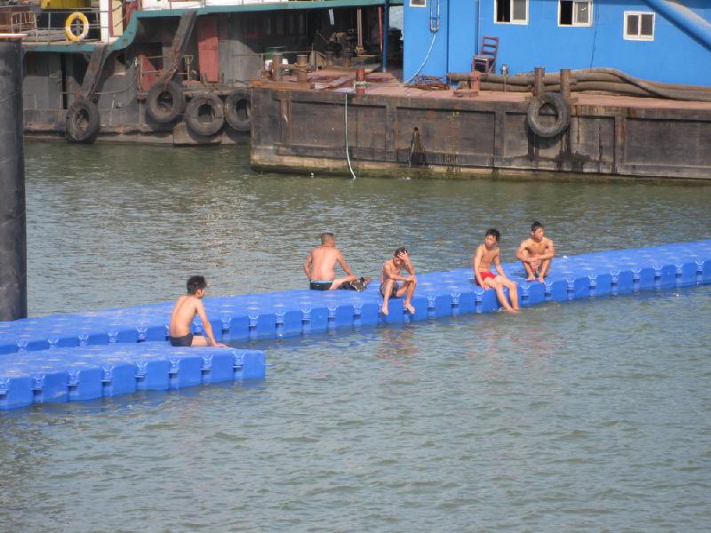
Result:
M644 79L711 85L709 0L405 0L405 80L468 72L483 36L496 70L618 68Z

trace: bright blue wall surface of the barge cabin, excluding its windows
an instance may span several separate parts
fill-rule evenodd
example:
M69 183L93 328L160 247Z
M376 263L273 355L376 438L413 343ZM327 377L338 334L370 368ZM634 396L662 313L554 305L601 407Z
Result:
M404 79L427 56L433 33L427 7L404 7ZM432 5L430 5L432 3ZM683 0L705 20L711 20L708 0ZM477 5L479 18L477 24ZM558 0L530 0L526 25L494 22L494 0L440 0L439 31L421 74L443 76L467 72L481 36L498 36L497 69L506 63L512 74L534 67L619 68L632 76L675 84L711 85L711 50L657 13L654 40L623 38L624 12L653 12L643 0L594 0L590 27L558 26Z

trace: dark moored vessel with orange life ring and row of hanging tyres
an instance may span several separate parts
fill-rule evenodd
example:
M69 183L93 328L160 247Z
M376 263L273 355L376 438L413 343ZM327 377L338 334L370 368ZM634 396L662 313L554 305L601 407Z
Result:
M247 86L272 52L379 64L389 36L396 55L384 4L44 0L0 7L0 32L27 35L28 137L214 144L249 140Z

